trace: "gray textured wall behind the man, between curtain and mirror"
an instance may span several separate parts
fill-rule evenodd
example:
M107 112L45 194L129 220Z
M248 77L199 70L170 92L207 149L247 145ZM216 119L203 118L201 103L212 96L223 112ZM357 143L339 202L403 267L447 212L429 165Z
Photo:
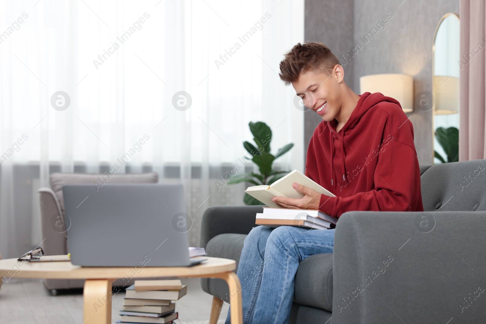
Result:
M358 42L363 45L360 37L364 37L382 17L391 12L393 18L385 24L385 29L374 35L344 65L347 85L355 93L361 94L361 76L398 72L414 76L415 95L421 91L432 92L435 28L444 14L459 14L459 0L402 1L306 0L305 40L325 43L344 65L346 61L342 55L355 48ZM304 141L307 153L312 133L322 119L313 111L305 114ZM415 107L407 116L414 125L418 162L432 164L432 112Z

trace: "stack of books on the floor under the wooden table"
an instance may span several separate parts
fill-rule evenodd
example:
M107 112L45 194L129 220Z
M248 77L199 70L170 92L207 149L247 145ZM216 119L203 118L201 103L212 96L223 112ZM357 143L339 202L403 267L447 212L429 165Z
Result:
M126 288L121 320L116 323L173 323L174 301L187 293L180 280L135 280Z

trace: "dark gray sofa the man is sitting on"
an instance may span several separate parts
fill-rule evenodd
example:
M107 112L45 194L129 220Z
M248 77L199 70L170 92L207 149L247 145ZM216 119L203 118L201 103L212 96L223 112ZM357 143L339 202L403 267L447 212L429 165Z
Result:
M420 174L424 212L341 215L334 253L300 262L289 323L486 323L486 162L421 166ZM208 256L238 264L257 212L208 208ZM229 302L224 281L201 285L214 305Z

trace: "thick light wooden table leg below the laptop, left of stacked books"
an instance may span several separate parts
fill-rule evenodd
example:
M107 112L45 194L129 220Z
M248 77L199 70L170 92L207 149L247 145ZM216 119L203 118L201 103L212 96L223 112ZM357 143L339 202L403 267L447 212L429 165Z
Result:
M87 279L83 290L83 324L111 324L111 283L115 279Z

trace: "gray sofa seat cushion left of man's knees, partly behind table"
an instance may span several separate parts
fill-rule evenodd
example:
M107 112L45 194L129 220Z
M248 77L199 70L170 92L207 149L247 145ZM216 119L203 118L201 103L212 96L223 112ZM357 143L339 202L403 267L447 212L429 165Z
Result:
M238 264L240 263L240 256L242 255L245 238L246 234L228 233L216 235L214 238L210 239L206 245L206 253L208 256L235 260L236 268L233 272L236 273ZM201 286L207 293L229 303L229 289L226 281L223 279L201 278Z

